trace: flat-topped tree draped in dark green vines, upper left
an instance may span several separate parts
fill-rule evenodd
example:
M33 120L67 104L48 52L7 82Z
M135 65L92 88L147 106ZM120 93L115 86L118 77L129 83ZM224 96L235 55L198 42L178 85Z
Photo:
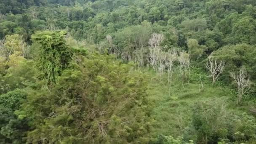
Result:
M42 72L40 78L55 83L69 61L72 59L71 49L65 43L66 32L36 32L32 35L34 43L40 44L37 55L37 66Z

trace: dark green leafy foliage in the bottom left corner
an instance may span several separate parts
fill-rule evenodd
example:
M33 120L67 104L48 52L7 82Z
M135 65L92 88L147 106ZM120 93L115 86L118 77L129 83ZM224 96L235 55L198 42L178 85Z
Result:
M19 110L27 93L20 89L0 95L0 143L22 144L29 127L26 120L20 120L15 111Z

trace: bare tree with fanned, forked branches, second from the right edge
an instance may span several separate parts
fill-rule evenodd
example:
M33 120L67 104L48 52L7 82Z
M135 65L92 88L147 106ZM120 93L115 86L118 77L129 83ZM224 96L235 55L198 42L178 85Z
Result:
M218 80L221 73L223 72L225 64L223 61L218 62L212 56L209 56L208 61L205 64L205 66L211 73L212 84L214 84L216 82L216 80Z

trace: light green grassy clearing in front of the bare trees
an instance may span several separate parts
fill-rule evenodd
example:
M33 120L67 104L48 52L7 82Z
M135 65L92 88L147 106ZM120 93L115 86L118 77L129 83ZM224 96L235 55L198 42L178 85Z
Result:
M173 75L172 85L166 76L160 81L155 72L148 72L149 99L154 102L152 117L155 119L153 136L164 134L166 136L182 136L184 130L191 124L192 108L200 101L207 99L226 98L231 103L233 93L228 88L213 86L208 80L203 81L203 91L199 90L199 83L183 83L179 74Z

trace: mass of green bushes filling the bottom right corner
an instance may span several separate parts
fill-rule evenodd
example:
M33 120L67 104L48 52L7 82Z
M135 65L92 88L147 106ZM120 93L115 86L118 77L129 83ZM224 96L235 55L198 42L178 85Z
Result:
M196 104L192 124L197 141L244 142L255 140L255 118L246 113L232 113L221 99ZM232 137L232 139L230 139Z

